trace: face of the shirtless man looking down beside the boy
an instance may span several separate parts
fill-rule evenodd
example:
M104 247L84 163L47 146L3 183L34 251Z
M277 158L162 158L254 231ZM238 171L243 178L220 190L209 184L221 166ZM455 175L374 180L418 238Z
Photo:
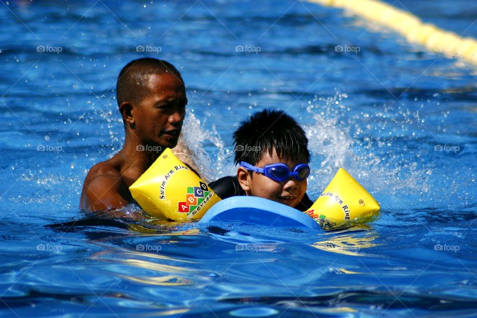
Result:
M174 148L185 117L184 84L173 74L152 74L149 93L136 108L134 134L150 146Z

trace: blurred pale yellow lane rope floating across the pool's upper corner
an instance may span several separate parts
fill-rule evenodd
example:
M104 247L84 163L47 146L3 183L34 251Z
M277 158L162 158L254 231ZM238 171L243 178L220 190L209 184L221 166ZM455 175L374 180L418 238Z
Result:
M477 41L461 38L453 32L445 31L420 19L407 11L383 3L379 0L308 0L327 6L346 9L353 14L384 25L403 35L408 42L420 44L435 53L448 58L459 58L477 65Z

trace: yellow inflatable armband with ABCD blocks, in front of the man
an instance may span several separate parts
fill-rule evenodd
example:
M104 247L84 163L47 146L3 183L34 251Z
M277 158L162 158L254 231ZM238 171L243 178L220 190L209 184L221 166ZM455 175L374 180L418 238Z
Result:
M174 221L200 219L220 201L219 196L169 148L129 190L148 214Z

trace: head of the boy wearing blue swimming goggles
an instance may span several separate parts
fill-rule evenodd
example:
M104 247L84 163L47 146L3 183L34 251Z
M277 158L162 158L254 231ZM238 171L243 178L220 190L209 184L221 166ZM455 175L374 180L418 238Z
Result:
M305 132L293 117L281 110L255 112L240 123L234 144L237 177L247 195L298 205L307 190L310 152ZM277 163L288 171L280 165L267 167ZM257 168L266 172L256 172ZM283 175L289 171L295 174Z

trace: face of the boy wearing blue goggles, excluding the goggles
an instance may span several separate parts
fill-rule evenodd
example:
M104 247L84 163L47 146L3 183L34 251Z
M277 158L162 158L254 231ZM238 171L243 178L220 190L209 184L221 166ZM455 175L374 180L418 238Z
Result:
M275 149L273 149L271 157L266 152L262 159L254 165L263 168L265 165L272 163L285 163L293 171L297 164L307 162L292 161L290 159L280 160ZM285 181L279 182L258 172L253 172L253 176L251 176L250 172L243 167L239 167L237 170L240 186L247 195L269 199L294 208L300 203L307 191L307 179L298 181L293 176L290 176Z

